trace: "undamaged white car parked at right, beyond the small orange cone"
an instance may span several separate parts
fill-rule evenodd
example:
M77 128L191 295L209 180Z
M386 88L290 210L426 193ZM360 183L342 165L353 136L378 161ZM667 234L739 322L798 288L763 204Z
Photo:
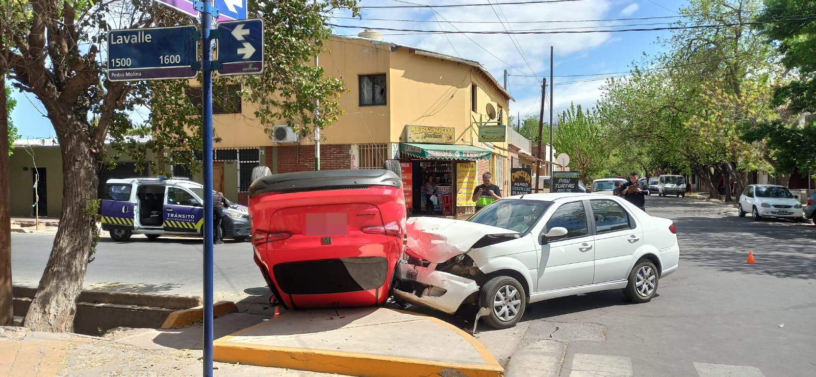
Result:
M763 217L805 220L799 197L778 184L749 184L739 196L737 205L739 217L744 217L748 211L753 220L761 220Z

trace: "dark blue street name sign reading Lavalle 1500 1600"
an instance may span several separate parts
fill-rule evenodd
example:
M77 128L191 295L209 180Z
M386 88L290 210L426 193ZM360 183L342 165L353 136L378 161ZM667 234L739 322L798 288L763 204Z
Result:
M111 81L194 78L197 61L195 26L120 29L108 32L108 79Z

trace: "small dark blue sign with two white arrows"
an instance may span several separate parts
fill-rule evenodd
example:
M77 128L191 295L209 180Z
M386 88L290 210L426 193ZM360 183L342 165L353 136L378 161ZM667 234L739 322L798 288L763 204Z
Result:
M264 72L264 21L242 20L218 24L218 61L221 76Z

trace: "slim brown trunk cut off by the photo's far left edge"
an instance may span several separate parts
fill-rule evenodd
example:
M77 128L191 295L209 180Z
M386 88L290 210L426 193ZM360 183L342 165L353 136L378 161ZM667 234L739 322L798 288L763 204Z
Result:
M14 324L11 294L11 195L8 188L8 113L6 73L0 69L0 326Z

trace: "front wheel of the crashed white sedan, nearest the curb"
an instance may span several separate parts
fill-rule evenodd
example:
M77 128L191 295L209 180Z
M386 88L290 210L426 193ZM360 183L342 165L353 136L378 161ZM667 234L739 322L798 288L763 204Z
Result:
M490 279L481 287L479 303L480 308L490 308L490 315L485 317L485 322L490 327L508 329L516 326L524 315L527 295L524 287L516 279L499 276Z

